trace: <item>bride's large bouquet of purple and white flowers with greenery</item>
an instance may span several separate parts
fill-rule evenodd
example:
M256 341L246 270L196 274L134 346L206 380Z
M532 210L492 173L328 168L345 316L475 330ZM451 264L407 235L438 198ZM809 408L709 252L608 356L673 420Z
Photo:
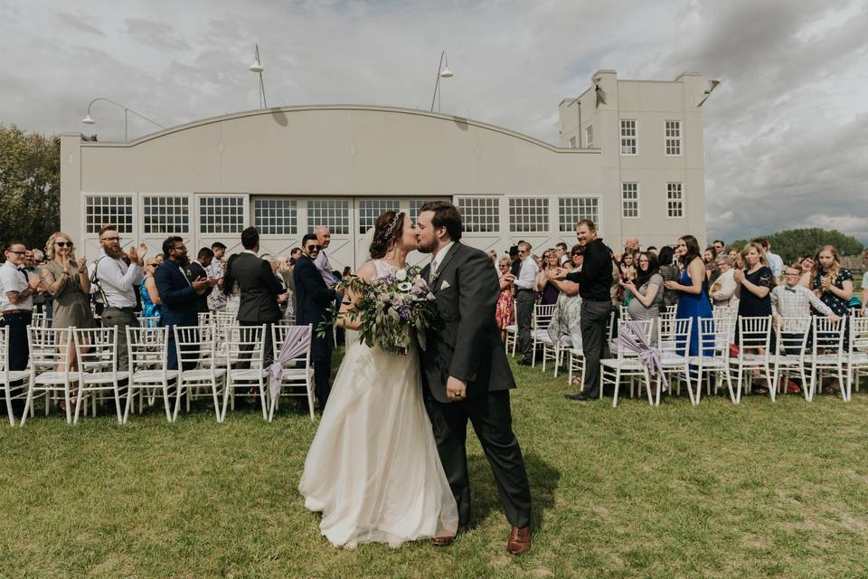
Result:
M354 308L343 315L359 321L360 341L394 354L407 354L415 330L419 346L425 349L426 330L437 323L438 312L420 268L398 270L370 282L349 276L338 285L344 292L349 290L358 296ZM331 331L337 317L335 308L331 308L316 328L320 337Z

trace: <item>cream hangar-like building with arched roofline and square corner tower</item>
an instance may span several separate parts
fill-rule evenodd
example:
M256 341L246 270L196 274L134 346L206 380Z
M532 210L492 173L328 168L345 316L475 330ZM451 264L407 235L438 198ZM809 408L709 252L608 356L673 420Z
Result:
M241 230L255 225L261 251L277 255L325 224L337 268L364 261L364 233L382 211L415 217L449 199L466 242L499 253L519 239L538 251L571 245L581 218L613 248L631 235L704 242L701 77L594 78L606 102L593 85L562 101L560 147L470 119L352 105L253 110L130 143L65 134L61 230L91 257L105 223L125 244L159 248L178 234L191 252L215 241L238 252Z

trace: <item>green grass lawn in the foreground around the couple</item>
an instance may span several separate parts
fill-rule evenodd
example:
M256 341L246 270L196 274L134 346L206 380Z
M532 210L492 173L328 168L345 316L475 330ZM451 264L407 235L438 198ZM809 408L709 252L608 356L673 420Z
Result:
M476 439L473 527L454 546L347 551L297 494L316 430L304 410L166 424L155 409L74 428L37 413L0 425L0 576L868 576L868 394L612 409L566 400L551 373L515 373L534 501L523 557L505 552Z

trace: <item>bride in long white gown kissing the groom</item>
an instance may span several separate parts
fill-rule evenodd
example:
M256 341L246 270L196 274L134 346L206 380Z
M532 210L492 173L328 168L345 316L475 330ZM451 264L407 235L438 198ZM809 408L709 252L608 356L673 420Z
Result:
M410 218L387 211L376 221L363 280L406 267L416 249ZM353 308L352 294L341 307ZM347 330L358 321L342 316ZM440 464L422 402L419 354L368 347L347 331L346 354L298 485L305 506L323 514L320 530L335 546L455 536L458 508Z

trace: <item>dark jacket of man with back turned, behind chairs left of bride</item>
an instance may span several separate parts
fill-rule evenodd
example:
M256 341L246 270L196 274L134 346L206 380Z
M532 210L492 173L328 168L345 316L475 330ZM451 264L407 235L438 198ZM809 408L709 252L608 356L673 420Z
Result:
M283 286L271 270L268 261L260 260L252 253L243 252L231 261L223 276L223 290L231 293L238 283L241 303L238 306L238 321L250 324L274 323L280 319L278 295Z

